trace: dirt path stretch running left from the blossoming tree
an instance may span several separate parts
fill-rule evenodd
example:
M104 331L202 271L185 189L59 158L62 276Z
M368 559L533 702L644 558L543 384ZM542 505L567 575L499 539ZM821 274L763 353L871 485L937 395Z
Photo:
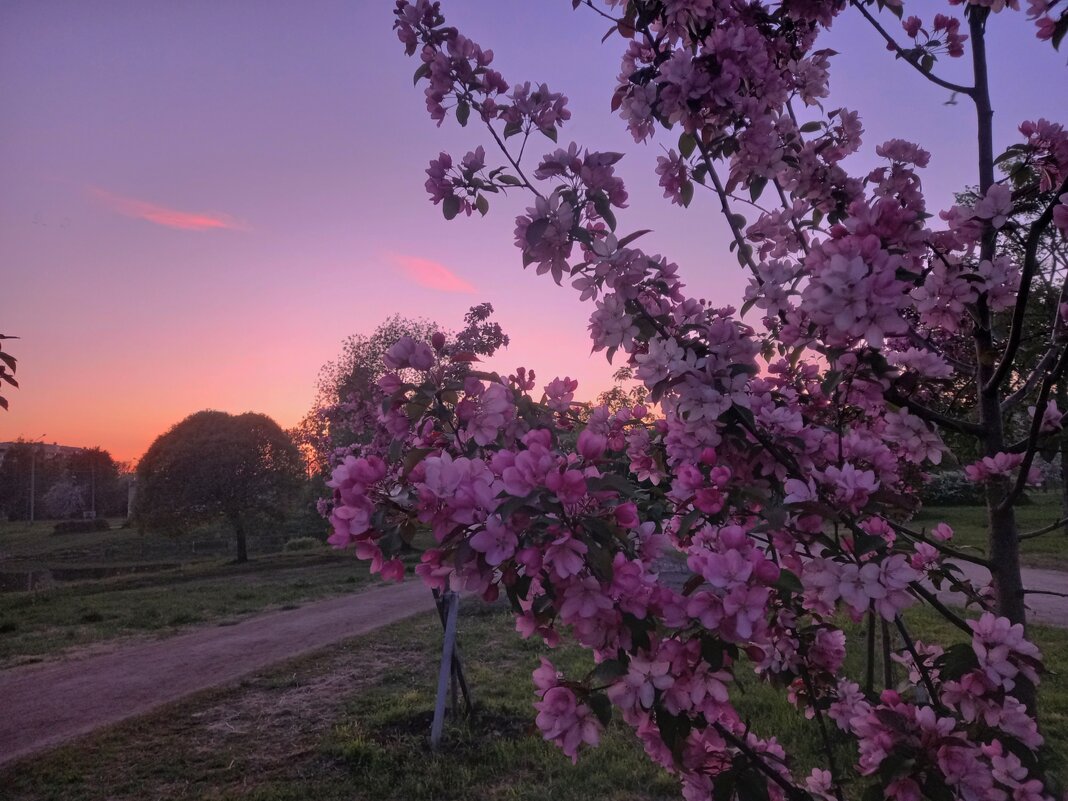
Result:
M0 672L0 765L434 608L421 581Z

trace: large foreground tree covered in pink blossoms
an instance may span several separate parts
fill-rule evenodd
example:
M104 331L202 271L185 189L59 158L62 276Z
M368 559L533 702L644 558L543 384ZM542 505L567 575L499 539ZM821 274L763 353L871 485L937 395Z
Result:
M611 106L634 140L674 138L657 168L664 194L717 199L751 277L744 305L689 297L673 263L641 250L644 232L621 229L622 154L557 147L562 94L509 85L439 3L398 0L431 119L477 126L493 154L441 154L431 200L451 219L524 193L523 265L590 302L593 347L633 367L659 411L579 418L575 381L532 394L522 368L456 379L465 354L403 339L378 384L389 436L333 472L332 541L399 578L396 553L428 527L436 545L415 568L427 584L503 593L524 637L552 645L566 632L593 651L587 676L548 661L535 672L545 737L575 757L614 709L687 799L1052 798L1014 509L1061 436L1051 393L1068 368L1068 288L1046 356L1024 371L1018 355L1032 287L1049 280L1038 242L1068 233L1068 131L1024 121L1016 144L993 151L985 42L1016 2L931 19L900 0L572 5L623 42ZM1030 0L1038 40L1059 42L1066 5ZM881 167L848 171L861 119L827 104L834 53L819 46L842 14L974 106L977 173L961 177L977 179L974 203L928 209L929 154L914 142L878 144ZM971 60L967 84L939 75L955 58ZM1037 214L1018 214L1039 197ZM970 393L967 413L942 400L951 382ZM989 512L985 557L957 550L945 523L909 522L948 431L983 454L968 475ZM659 580L672 551L691 574L682 586ZM987 567L992 592L960 561ZM972 611L946 607L948 588ZM918 642L914 604L964 642ZM854 649L859 675L844 670ZM739 711L739 677L754 672L811 721L821 767L798 770Z

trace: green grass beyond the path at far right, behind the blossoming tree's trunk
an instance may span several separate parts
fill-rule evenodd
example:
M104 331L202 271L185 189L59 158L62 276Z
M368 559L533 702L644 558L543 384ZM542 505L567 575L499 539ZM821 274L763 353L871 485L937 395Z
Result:
M1061 520L1059 493L1035 493L1032 503L1017 507L1020 532L1037 531ZM927 506L911 525L926 528L946 522L953 527L956 547L984 555L987 552L987 512L980 506ZM1020 559L1028 567L1068 571L1068 536L1063 529L1027 539L1020 545Z

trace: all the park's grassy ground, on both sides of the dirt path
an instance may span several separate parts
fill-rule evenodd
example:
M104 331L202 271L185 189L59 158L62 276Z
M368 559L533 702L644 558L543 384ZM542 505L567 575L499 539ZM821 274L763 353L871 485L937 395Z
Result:
M1052 499L1040 498L1024 511L1023 528L1040 528L1058 513ZM932 509L916 524L940 520L955 527L961 544L981 549L978 509ZM220 553L164 553L167 543L147 535L139 544L131 530L44 532L0 531L0 568L122 565L127 571L0 594L5 665L121 648L130 640L230 623L368 583L351 556L326 549L262 553L249 565L233 565ZM1026 564L1068 568L1062 533L1026 545ZM913 617L921 639L952 638L933 617ZM0 769L0 787L4 798L57 801L678 797L674 781L648 763L619 724L578 767L541 741L533 726L530 674L545 651L515 634L505 610L465 601L460 631L477 713L451 724L439 754L428 750L426 734L440 625L421 614L15 763ZM1033 637L1050 668L1041 721L1056 763L1056 755L1068 754L1068 632L1036 626ZM588 666L574 649L552 658L571 675ZM743 708L754 725L776 732L800 766L815 764L811 723L778 691L755 679L749 684ZM1063 761L1054 770L1064 776Z

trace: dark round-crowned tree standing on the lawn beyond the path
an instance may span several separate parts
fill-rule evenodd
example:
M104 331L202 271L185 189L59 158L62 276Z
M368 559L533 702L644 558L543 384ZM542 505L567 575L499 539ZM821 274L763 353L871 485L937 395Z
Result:
M281 518L298 497L303 461L293 440L264 414L199 411L158 437L138 465L140 528L180 533L225 519L248 561L246 527Z

